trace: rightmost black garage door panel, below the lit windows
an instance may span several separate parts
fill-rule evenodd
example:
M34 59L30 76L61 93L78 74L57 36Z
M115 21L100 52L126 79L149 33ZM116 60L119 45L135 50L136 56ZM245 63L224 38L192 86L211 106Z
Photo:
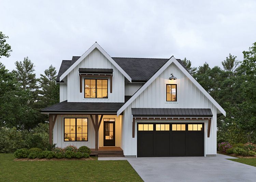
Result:
M188 134L188 156L203 156L203 133Z

